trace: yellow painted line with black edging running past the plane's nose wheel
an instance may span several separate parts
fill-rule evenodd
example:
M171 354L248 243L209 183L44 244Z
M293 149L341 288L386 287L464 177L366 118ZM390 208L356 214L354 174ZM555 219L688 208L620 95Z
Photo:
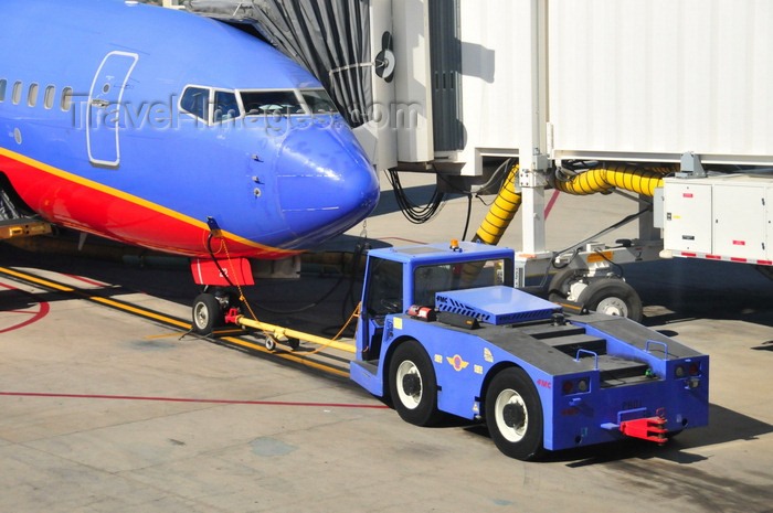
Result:
M167 316L162 316L160 313L151 312L151 311L145 310L142 308L136 308L136 307L125 304L125 303L121 303L118 301L113 301L110 299L105 299L105 298L100 298L97 296L92 296L92 295L86 293L82 289L76 289L73 287L68 287L66 285L56 284L54 281L50 281L50 280L40 278L38 276L28 275L25 272L20 272L18 270L9 269L6 267L0 267L0 272L3 272L3 274L9 275L9 276L13 276L15 278L23 279L25 281L31 281L33 284L42 285L43 287L47 287L51 289L61 290L63 292L71 292L71 293L74 293L77 296L82 296L82 297L87 298L91 301L107 304L109 307L117 308L117 309L124 310L124 311L128 311L128 312L135 313L135 314L140 316L140 317L156 319L156 320L165 322L167 324L172 324L172 325L177 325L180 328L184 328L186 330L190 329L190 327L191 327L189 323L182 322L182 321L180 321L178 319L173 319L171 317L167 317ZM178 335L184 335L187 333L188 333L188 331L182 332L182 333L168 333L168 334L161 334L161 335L156 335L156 336L146 336L146 339L151 339L151 338L160 339L160 338L165 338L165 336L178 336ZM269 354L272 356L277 356L277 357L280 357L284 360L300 363L303 365L306 365L306 366L309 366L313 368L317 368L320 371L329 372L331 374L337 374L339 376L349 377L349 373L346 371L341 371L340 368L330 367L328 365L324 365L321 363L317 363L317 362L310 361L308 359L298 357L298 356L295 356L295 355L289 354L289 353L277 353L275 351L268 351L263 345L253 344L251 342L247 342L247 341L244 341L241 339L235 339L233 336L223 336L223 338L220 338L218 340L224 340L224 341L226 341L231 344L234 344L234 345L240 345L242 348L247 348L247 349L251 349L254 351L258 351L261 353Z

